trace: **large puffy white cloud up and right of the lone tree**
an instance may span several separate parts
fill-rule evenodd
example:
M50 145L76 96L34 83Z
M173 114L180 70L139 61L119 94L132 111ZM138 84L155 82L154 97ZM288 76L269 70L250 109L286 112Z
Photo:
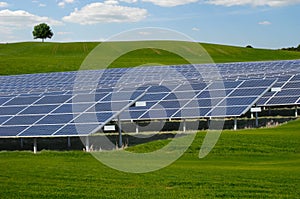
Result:
M110 3L91 3L82 9L75 9L69 16L63 17L63 21L91 25L98 23L138 22L146 18L147 10L120 6Z

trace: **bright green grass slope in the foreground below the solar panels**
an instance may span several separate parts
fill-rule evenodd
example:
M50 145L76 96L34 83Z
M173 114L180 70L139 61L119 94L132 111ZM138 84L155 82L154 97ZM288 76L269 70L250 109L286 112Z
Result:
M300 121L225 131L206 158L197 134L172 165L147 174L112 170L84 152L0 153L0 198L298 198ZM158 141L131 148L143 152Z

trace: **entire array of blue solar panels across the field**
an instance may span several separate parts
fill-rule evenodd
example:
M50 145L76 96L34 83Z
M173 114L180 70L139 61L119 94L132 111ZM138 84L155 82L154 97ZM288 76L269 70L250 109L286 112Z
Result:
M297 105L299 71L294 60L1 76L0 137L88 135L119 114L121 120L238 117L255 104Z

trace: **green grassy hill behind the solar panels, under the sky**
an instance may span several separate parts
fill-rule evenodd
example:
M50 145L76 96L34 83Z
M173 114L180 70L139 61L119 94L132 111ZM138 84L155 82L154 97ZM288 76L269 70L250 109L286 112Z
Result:
M77 70L89 52L99 43L13 43L0 44L0 75ZM238 61L300 59L300 52L249 49L201 44L216 63ZM184 64L181 57L157 49L130 52L111 67L133 67L147 63ZM101 63L100 63L101 64Z

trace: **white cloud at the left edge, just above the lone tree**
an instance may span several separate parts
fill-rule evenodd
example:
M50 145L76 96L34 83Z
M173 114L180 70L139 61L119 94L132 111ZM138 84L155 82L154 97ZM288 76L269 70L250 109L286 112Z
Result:
M10 28L32 27L38 23L48 23L49 25L63 25L62 22L49 17L40 17L24 10L0 10L0 26Z

